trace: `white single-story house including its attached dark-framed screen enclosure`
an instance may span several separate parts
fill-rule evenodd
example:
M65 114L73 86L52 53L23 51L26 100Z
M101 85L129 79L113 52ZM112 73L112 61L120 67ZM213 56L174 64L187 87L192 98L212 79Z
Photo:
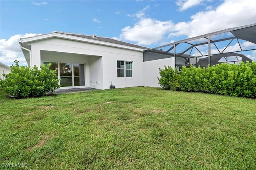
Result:
M28 65L39 67L51 63L50 69L56 69L62 88L108 89L111 82L116 88L160 87L158 68L165 65L180 70L190 64L252 62L240 53L256 50L255 30L256 23L253 23L152 49L97 35L60 31L18 41ZM230 51L229 45L234 42L239 48ZM223 49L221 43L225 44Z

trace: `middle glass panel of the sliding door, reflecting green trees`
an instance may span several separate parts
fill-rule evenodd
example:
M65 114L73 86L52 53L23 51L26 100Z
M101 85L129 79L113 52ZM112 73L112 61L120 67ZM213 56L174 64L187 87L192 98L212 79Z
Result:
M72 63L60 63L60 85L73 86Z

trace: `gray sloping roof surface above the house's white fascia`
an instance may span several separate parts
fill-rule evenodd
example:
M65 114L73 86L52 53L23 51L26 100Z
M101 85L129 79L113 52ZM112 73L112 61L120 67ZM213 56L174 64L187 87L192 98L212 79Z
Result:
M104 41L104 42L108 42L108 43L126 45L126 46L129 46L129 47L136 47L136 48L146 49L146 50L150 49L148 47L143 47L143 46L135 45L135 44L132 44L132 43L126 43L124 41L119 41L119 40L108 38L108 37L98 37L96 35L85 35L85 34L68 33L68 32L62 32L62 31L54 31L53 33L61 33L61 34L65 34L65 35L72 35L72 36L75 36L75 37L82 37L82 38L86 38L86 39L93 39L93 40L96 40L96 41Z

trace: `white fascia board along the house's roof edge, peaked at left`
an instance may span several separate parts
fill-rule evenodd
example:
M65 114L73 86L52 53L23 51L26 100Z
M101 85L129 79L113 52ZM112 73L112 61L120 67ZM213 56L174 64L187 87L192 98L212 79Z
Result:
M105 45L109 47L117 47L121 49L129 49L129 50L134 50L134 51L144 51L144 49L136 48L136 47L129 47L126 45L119 45L115 43L109 43L109 42L104 42L104 41L97 41L93 39L87 39L83 37L75 37L72 35L66 35L66 34L61 34L61 33L50 33L50 34L44 34L36 37L29 37L29 38L24 38L20 39L19 43L31 43L33 41L40 41L44 39L49 39L49 38L61 38L61 39L68 39L68 40L74 40L74 41L81 41L81 42L86 42L86 43L92 43L92 44L98 44L98 45Z

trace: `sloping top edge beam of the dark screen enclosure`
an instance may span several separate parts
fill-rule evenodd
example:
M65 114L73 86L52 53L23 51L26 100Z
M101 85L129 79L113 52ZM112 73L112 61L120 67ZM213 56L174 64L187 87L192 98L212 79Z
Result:
M221 30L221 31L215 31L215 32L208 33L208 34L199 35L199 36L196 36L196 37L191 37L191 38L188 38L188 39L176 41L176 42L174 42L174 43L162 45L162 46L160 46L160 47L156 47L156 48L153 48L153 49L158 49L158 48L162 48L162 47L167 47L167 46L174 45L174 44L184 43L184 42L186 42L186 41L192 41L192 40L196 40L196 39L208 37L209 35L212 36L212 35L216 35L216 34L226 33L226 32L229 32L229 31L234 31L234 30L238 30L238 29L243 29L243 28L247 28L247 27L252 27L252 26L256 26L256 23L252 23L252 24L250 24L250 25L244 25L244 26L240 26L240 27L234 27L234 28L223 29L223 30ZM148 51L153 50L153 49L149 49Z

